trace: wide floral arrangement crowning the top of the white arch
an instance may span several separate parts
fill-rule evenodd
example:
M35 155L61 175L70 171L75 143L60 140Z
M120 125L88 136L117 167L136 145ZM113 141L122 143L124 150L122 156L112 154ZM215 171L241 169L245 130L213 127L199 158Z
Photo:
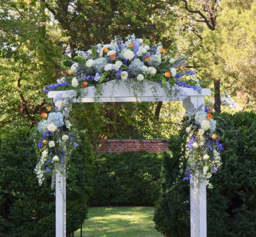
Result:
M66 76L57 84L44 88L50 90L81 89L111 80L149 80L159 82L170 89L171 86L192 88L201 92L195 70L185 67L185 57L175 57L176 48L168 52L161 43L127 36L123 41L117 37L110 44L100 43L88 51L76 51L77 55L69 68L65 60L61 63ZM69 61L70 63L70 61Z

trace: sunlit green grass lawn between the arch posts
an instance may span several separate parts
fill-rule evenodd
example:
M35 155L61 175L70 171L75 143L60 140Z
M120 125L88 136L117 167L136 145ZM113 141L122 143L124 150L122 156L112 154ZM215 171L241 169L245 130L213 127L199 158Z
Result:
M83 237L159 237L152 221L154 207L92 207L82 227ZM80 236L80 230L75 232Z

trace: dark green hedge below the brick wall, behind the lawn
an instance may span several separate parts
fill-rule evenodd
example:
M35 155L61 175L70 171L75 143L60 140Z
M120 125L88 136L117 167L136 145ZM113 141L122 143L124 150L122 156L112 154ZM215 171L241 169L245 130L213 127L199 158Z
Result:
M90 205L154 205L160 194L162 157L146 151L98 155Z

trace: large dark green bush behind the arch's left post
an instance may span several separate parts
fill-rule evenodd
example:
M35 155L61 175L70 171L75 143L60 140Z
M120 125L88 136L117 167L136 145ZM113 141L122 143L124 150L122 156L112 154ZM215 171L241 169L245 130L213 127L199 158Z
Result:
M68 165L67 235L86 218L90 190L90 145L81 132L82 143ZM0 236L55 236L55 196L51 177L38 185L34 168L37 157L27 128L0 131Z

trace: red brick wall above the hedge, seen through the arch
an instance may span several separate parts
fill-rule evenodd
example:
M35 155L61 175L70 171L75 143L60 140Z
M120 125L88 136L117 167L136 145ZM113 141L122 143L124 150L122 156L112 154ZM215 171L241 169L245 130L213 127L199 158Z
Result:
M140 151L146 150L147 152L163 152L169 151L167 140L157 139L108 139L106 140L99 152L101 153L121 153L124 151Z

